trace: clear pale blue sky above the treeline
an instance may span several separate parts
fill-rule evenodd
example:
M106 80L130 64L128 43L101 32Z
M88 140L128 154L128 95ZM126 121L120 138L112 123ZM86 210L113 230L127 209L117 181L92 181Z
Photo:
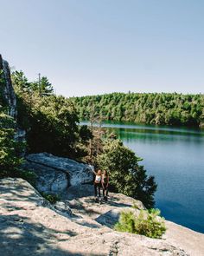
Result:
M203 0L0 0L0 53L57 94L204 93Z

